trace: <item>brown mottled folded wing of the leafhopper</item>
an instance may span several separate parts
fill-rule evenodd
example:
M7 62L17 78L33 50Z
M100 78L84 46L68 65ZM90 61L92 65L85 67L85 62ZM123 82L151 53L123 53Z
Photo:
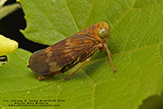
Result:
M54 72L90 51L95 44L95 38L75 34L32 54L29 67L38 74Z

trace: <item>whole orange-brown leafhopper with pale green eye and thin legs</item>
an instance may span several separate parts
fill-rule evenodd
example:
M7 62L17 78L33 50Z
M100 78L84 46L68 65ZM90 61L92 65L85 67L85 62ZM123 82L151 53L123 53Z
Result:
M34 52L29 59L28 67L33 72L42 74L38 79L44 80L45 76L64 73L83 62L77 70L64 78L66 80L89 62L94 52L100 49L100 52L107 51L110 64L116 72L111 60L111 53L107 48L109 38L110 27L106 22L92 24L46 49Z

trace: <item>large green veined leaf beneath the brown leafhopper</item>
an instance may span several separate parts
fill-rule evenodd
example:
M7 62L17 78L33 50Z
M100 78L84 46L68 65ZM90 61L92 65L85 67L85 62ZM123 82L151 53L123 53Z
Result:
M162 0L22 0L21 3L28 25L24 35L44 44L52 45L100 21L109 23L108 47L118 71L113 73L106 52L97 51L66 82L64 77L76 67L38 81L39 75L26 67L31 53L18 49L9 55L10 62L0 67L1 107L14 104L11 100L38 100L62 109L137 109L144 99L163 91ZM21 108L34 107L42 108Z

